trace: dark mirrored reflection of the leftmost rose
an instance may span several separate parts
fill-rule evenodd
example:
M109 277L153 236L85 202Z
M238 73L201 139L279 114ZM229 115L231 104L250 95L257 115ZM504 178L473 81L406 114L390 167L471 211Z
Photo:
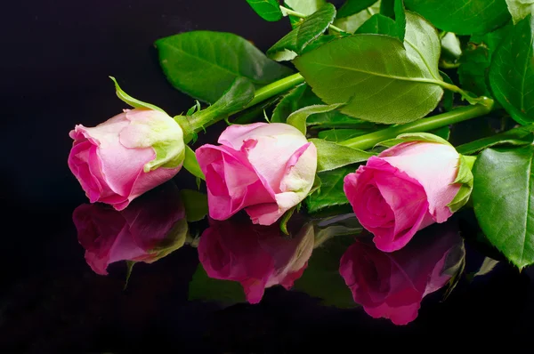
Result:
M85 261L107 275L109 263L151 263L182 247L187 236L185 209L174 182L167 182L117 212L103 204L79 205L72 215Z

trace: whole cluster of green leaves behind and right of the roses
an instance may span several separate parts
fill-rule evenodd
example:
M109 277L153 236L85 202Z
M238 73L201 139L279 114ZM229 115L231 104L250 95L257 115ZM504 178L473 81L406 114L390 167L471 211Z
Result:
M265 53L231 33L192 31L156 42L169 82L211 104L191 117L246 109L247 119L295 125L319 151L321 185L306 198L307 211L328 213L348 204L344 175L377 151L347 141L487 96L495 101L481 118L488 133L464 139L455 126L433 133L454 145L468 141L457 149L477 157L472 205L482 231L519 268L534 263L534 2L346 0L338 9L326 0L247 3L264 20L291 24ZM295 72L301 84L257 105L261 87Z

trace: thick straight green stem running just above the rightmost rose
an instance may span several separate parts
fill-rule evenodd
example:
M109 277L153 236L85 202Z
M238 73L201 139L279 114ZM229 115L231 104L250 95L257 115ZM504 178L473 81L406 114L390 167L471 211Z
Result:
M483 102L483 104L454 109L447 113L419 119L405 125L391 126L374 133L368 133L347 141L342 141L339 144L354 149L372 149L379 142L394 139L402 133L428 132L433 129L441 128L442 126L454 125L468 119L484 116L490 113L493 108L493 100L484 98Z

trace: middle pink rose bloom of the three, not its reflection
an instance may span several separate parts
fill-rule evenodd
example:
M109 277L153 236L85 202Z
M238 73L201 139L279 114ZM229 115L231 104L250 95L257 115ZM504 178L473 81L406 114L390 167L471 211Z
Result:
M245 209L254 223L271 225L312 189L317 150L295 127L231 125L218 142L196 151L213 219Z

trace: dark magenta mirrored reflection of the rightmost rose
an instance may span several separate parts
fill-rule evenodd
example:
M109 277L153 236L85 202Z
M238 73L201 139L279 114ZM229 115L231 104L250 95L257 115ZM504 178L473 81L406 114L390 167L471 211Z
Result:
M355 302L373 318L406 325L417 318L425 295L445 286L460 268L464 242L450 224L419 231L394 253L357 240L344 253L339 272Z

